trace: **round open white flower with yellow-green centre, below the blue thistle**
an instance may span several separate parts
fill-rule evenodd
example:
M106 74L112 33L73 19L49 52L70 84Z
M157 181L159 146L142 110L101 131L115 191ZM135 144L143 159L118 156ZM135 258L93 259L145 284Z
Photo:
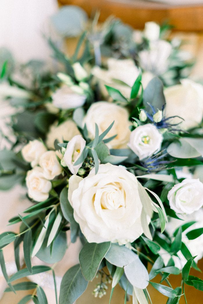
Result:
M131 132L128 147L133 150L139 159L157 153L161 149L163 136L151 123L138 126Z

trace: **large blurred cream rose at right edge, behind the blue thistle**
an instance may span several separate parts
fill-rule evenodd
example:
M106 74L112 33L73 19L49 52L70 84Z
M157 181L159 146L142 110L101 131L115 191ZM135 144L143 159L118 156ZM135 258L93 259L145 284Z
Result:
M182 130L198 126L203 118L203 86L189 79L181 80L180 85L174 85L164 90L166 98L165 116L180 116L173 123L180 123Z

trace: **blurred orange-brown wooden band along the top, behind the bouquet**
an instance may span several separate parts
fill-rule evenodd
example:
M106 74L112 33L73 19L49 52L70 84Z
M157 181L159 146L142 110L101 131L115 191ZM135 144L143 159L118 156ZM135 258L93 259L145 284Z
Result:
M162 3L143 2L140 0L58 0L61 5L78 5L90 16L96 9L100 11L100 21L103 22L110 15L121 18L136 29L142 29L145 22L161 23L169 21L177 30L203 30L203 5L179 7Z

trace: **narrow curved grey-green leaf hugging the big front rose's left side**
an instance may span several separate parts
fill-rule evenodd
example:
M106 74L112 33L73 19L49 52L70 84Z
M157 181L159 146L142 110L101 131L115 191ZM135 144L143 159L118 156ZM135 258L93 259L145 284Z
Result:
M73 216L73 208L68 201L68 188L65 187L61 191L60 194L60 204L61 204L61 210L63 213L63 216L65 219L67 219L68 222L70 222L70 228L71 228L71 242L75 243L78 232L79 232L79 224L75 222L74 216Z

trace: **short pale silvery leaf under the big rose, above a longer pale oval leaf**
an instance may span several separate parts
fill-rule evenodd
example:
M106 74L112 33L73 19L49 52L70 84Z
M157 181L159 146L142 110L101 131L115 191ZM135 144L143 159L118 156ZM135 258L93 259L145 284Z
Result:
M105 255L105 259L117 267L124 267L134 261L136 257L137 255L132 250L116 244L111 244Z

